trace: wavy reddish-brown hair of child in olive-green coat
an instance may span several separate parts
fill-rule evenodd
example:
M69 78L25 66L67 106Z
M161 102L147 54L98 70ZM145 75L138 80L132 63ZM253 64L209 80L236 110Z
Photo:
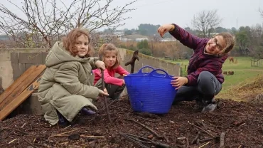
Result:
M89 40L89 48L87 51L87 55L85 57L89 57L89 53L92 50L92 46L90 46L90 36L87 31L81 28L74 28L72 31L70 31L67 36L63 38L63 46L65 50L69 51L72 56L77 55L77 47L75 46L76 40L81 35L87 36L87 39Z

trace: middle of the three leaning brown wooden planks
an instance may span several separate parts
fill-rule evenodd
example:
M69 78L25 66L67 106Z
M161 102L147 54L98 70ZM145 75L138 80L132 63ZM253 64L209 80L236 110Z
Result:
M28 75L28 78L26 78L26 80L24 80L23 83L21 83L21 85L19 85L19 87L16 88L13 93L11 93L11 95L6 97L6 99L0 103L0 110L3 110L3 108L9 104L9 102L12 102L14 99L16 99L16 97L20 95L23 90L28 87L28 85L31 85L31 83L33 83L33 81L38 78L38 75L40 75L43 70L45 70L45 65L39 65L36 70L31 73L31 75Z

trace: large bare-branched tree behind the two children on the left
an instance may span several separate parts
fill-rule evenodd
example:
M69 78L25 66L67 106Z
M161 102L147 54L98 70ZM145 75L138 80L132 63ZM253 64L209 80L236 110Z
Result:
M98 28L117 28L128 17L137 0L124 6L114 4L114 0L23 0L22 4L6 0L21 13L14 13L4 2L0 4L0 31L6 33L18 46L51 47L72 28L87 28L92 32Z

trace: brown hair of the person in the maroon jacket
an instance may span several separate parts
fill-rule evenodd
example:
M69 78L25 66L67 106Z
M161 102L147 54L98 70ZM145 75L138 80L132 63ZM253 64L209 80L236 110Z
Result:
M225 56L227 53L229 53L232 48L235 46L235 37L232 36L230 33L218 33L216 36L222 36L225 39L225 48L218 53L218 56Z

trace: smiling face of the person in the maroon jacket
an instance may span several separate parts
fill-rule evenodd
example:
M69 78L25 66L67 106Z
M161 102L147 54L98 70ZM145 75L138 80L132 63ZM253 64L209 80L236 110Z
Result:
M225 48L225 39L222 36L211 38L205 46L205 53L218 55Z

